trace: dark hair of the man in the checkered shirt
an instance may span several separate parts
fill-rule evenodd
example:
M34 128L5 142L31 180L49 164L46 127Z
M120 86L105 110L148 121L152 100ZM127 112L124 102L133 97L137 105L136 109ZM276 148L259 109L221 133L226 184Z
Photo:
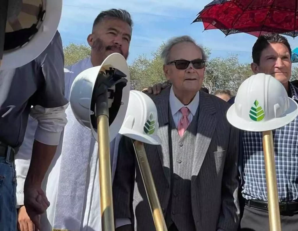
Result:
M254 63L260 65L261 54L270 43L282 43L288 48L290 56L292 56L291 46L285 37L283 37L280 34L266 34L258 37L257 41L254 43L254 46L252 47L252 61Z

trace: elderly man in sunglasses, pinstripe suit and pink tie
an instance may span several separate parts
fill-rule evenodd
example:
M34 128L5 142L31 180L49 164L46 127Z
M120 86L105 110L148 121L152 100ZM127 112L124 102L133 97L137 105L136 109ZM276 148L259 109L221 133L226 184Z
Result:
M150 95L162 144L145 144L145 150L167 228L235 231L239 133L226 120L229 104L199 91L206 55L192 38L169 40L162 59L172 86ZM155 230L131 144L123 137L119 146L113 184L117 231Z

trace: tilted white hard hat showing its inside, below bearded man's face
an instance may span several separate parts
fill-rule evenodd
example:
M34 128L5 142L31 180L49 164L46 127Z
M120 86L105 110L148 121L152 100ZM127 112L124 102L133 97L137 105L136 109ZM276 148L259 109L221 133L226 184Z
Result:
M70 90L70 106L80 124L87 128L91 128L94 138L97 140L97 122L94 116L94 106L92 97L94 96L94 86L100 72L109 70L109 68L116 68L126 75L126 86L119 89L119 85L112 87L115 95L114 98L109 99L109 136L112 141L118 134L122 122L125 118L125 113L128 105L130 77L128 65L125 58L119 53L110 54L102 63L101 66L91 67L82 71L72 83ZM123 85L122 85L123 86ZM118 93L117 93L118 92ZM116 93L119 96L116 99ZM114 100L114 101L113 101ZM115 101L117 100L117 102ZM114 103L114 104L112 104ZM113 112L113 113L112 113ZM97 140L98 141L98 140Z

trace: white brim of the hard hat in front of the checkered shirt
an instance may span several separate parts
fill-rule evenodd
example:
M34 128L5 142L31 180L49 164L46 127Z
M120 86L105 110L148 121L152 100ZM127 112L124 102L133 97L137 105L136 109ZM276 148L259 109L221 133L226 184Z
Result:
M255 122L244 120L237 115L235 109L234 103L227 111L226 117L232 126L244 131L261 132L281 128L292 122L298 115L298 104L291 98L289 98L289 109L281 117L269 121Z

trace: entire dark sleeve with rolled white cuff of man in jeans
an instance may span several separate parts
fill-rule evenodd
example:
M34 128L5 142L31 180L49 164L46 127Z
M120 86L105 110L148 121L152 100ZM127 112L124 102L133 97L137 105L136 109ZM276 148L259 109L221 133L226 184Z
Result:
M64 96L64 55L62 40L57 31L51 43L36 59L36 75L40 76L38 90L31 98L30 115L38 121L35 140L47 145L58 145L60 134L67 123Z

